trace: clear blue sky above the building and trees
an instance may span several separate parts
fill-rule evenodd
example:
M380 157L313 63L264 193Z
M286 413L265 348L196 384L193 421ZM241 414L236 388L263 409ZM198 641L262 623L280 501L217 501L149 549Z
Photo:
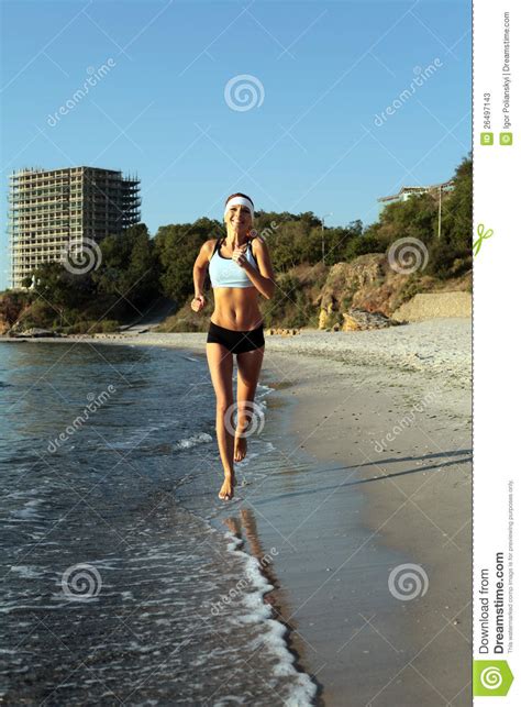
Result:
M220 219L234 191L368 224L378 197L447 179L470 150L469 1L1 5L1 288L13 169L137 174L154 234Z

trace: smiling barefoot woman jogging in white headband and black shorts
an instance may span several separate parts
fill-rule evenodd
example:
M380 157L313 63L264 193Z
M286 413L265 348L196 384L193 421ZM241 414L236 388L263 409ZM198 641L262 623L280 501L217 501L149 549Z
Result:
M195 297L191 309L200 312L207 272L213 288L214 310L207 338L207 358L215 390L215 431L224 470L219 498L231 500L235 486L234 462L246 456L245 432L264 357L264 321L258 295L273 297L275 274L266 242L253 231L253 201L232 194L224 208L226 236L203 243L193 265ZM233 354L237 362L236 429L231 429Z

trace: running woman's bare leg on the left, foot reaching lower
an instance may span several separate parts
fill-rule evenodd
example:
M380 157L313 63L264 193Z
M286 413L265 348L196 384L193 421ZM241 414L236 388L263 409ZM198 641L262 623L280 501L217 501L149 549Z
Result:
M219 498L228 500L233 497L233 431L226 429L225 416L233 405L233 355L222 344L207 343L207 358L215 390L215 432L224 470L224 484ZM229 412L230 416L230 412Z

